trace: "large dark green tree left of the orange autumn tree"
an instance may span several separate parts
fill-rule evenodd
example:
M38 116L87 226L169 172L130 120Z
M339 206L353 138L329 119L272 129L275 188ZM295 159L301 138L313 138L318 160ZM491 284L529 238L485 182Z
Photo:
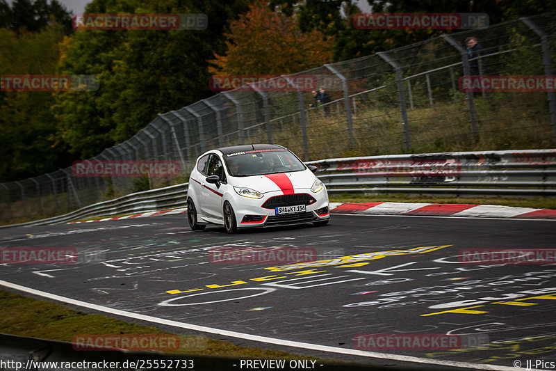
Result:
M204 13L202 31L83 30L66 40L60 73L96 74L95 92L57 95L58 140L80 158L129 139L156 118L206 98L206 60L225 51L229 19L247 9L245 0L93 0L85 13Z

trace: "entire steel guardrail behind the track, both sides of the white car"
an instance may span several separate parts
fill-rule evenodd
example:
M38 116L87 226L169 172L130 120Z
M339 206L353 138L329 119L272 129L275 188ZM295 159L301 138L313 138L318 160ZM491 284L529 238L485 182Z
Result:
M318 166L318 177L330 194L556 195L556 149L346 157L306 164ZM0 228L186 207L187 188L183 183L142 191L62 216Z

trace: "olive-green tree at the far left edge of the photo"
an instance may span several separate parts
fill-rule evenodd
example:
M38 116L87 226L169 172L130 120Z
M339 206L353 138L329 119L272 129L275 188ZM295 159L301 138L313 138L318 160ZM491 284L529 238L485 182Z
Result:
M54 74L63 28L37 33L0 29L0 74ZM54 171L71 161L56 146L51 92L0 92L0 182Z

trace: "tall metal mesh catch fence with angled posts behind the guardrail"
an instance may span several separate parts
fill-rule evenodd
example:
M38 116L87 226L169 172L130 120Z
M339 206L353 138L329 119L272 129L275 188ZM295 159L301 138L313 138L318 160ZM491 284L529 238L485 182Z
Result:
M177 161L177 177L83 177L72 168L0 184L0 223L60 215L133 191L186 182L205 150L278 143L315 159L521 148L554 148L553 91L464 92L461 78L552 76L556 13L450 33L286 77L313 76L331 102L310 107L310 91L261 91L254 85L159 113L127 141L92 161ZM484 49L470 59L464 40ZM478 66L478 72L474 68ZM519 149L521 149L519 148Z

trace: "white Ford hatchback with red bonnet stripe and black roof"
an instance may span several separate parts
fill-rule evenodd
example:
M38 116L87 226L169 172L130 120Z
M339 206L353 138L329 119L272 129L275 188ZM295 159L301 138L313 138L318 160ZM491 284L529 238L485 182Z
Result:
M188 221L193 230L207 224L238 228L324 225L330 219L326 187L280 145L218 148L201 155L188 187Z

